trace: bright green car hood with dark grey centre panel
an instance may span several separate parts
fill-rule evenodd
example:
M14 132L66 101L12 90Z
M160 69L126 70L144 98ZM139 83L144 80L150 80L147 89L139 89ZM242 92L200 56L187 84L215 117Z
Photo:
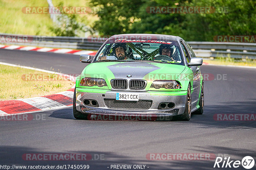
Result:
M177 64L151 62L97 62L84 69L85 77L111 79L175 80L185 69ZM131 76L131 77L130 77ZM170 76L171 79L170 79Z

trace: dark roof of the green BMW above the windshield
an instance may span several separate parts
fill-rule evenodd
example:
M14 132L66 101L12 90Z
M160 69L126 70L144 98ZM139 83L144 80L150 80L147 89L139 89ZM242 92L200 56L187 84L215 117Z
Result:
M164 34L118 34L113 35L110 39L162 39L162 40L172 40L179 41L180 37L173 35L164 35Z

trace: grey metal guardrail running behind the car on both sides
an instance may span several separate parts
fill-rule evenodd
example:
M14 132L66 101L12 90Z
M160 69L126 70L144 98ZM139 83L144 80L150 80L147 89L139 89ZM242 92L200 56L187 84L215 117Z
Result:
M20 35L21 42L8 42L7 37L16 37L15 34L0 33L0 44L20 46L40 46L52 48L72 48L83 50L98 50L104 43L104 38L80 38L80 37L51 37L51 36L30 36ZM3 38L4 37L4 38ZM10 39L9 38L9 39ZM15 38L14 38L15 39ZM231 57L238 59L256 59L256 43L233 43L233 42L188 42L193 47L198 57Z

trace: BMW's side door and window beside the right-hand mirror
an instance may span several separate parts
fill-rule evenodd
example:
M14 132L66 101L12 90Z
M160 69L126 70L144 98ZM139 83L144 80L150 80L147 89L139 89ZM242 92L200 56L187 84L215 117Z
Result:
M182 49L186 55L187 63L190 62L191 57L196 57L195 53L192 51L188 43L184 40L180 41ZM191 101L192 106L198 102L198 96L200 92L200 69L198 66L189 66L193 72L193 86L191 87Z

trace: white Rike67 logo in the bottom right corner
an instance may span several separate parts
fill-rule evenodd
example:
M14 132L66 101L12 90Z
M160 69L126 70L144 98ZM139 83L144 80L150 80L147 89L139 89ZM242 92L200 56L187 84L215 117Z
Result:
M223 161L223 162L222 162ZM254 166L254 159L251 156L245 156L242 161L240 160L231 160L230 157L225 157L224 159L221 157L217 157L214 163L214 168L238 168L239 166L243 166L245 169L251 169Z

